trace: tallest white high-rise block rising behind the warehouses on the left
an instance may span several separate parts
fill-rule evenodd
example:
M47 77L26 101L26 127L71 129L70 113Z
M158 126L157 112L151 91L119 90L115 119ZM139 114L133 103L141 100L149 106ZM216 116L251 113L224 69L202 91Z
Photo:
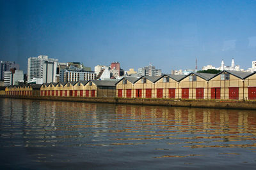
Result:
M28 58L28 80L43 78L46 81L55 82L58 59L49 59L47 55ZM51 72L51 73L50 73ZM50 76L48 78L48 76Z

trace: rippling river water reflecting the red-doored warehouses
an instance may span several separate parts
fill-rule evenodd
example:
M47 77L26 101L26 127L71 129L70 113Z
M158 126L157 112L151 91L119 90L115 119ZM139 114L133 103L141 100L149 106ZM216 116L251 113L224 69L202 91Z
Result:
M0 98L1 169L253 169L256 111Z

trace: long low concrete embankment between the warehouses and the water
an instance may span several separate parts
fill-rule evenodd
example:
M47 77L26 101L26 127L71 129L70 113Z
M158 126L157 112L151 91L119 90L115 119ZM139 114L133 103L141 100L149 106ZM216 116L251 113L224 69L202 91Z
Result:
M47 97L47 96L0 96L16 99L33 99L47 101L77 101L88 103L137 104L153 106L178 106L191 108L225 108L256 110L256 101L206 100L206 99L141 99L116 97Z

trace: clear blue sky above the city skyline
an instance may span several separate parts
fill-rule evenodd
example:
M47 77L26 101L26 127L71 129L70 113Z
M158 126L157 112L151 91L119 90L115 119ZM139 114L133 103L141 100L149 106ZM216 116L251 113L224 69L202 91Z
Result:
M256 60L256 1L0 0L0 60L49 55L163 73Z

